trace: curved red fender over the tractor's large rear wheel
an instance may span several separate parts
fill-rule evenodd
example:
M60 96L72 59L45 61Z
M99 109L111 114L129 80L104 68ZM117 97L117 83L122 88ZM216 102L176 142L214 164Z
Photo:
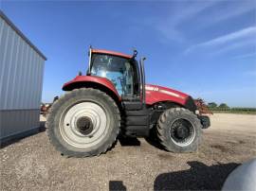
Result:
M95 77L95 76L77 76L76 78L73 78L71 81L68 81L66 83L64 83L63 86L63 90L68 90L70 86L74 85L75 83L78 82L94 82L94 83L99 83L103 86L105 86L106 88L108 88L109 90L111 90L112 92L115 93L115 95L117 95L119 97L119 100L121 99L119 96L118 91L116 90L115 86L113 85L113 83L107 79L107 78L101 78L101 77Z

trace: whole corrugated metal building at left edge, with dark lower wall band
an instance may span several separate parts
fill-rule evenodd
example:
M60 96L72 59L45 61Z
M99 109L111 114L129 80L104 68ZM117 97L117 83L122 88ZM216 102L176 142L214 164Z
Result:
M0 10L0 141L39 129L46 57Z

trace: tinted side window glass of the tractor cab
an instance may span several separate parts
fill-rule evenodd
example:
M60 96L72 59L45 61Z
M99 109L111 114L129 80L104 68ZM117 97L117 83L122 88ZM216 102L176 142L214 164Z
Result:
M134 67L125 58L105 54L93 54L91 76L108 78L120 96L134 95Z

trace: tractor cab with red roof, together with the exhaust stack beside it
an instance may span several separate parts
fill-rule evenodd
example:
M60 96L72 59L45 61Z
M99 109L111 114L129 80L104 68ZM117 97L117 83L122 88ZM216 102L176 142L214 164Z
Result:
M109 79L123 101L141 102L145 99L144 59L138 63L136 57L137 50L131 56L90 48L87 75Z

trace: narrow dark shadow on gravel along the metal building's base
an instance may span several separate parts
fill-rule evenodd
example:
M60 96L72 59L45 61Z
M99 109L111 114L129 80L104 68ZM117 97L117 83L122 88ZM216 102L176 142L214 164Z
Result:
M35 134L37 134L39 132L43 132L43 131L46 131L46 122L45 121L40 122L40 126L38 129L28 130L27 132L9 137L8 139L1 141L0 148L6 148L11 144L18 143L19 141L21 141L24 138L27 138L29 136L35 135Z

